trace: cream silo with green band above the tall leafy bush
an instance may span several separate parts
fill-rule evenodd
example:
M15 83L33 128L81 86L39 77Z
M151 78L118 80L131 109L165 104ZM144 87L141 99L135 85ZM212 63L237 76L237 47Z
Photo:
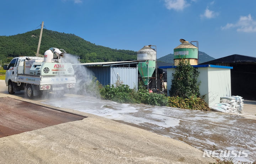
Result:
M190 65L198 64L198 48L180 39L181 44L174 49L174 65L178 65L181 59L189 60Z

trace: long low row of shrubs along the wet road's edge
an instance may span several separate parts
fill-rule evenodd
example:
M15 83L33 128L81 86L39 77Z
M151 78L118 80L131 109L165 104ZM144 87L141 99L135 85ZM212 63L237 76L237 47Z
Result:
M170 106L174 108L207 110L210 111L206 102L201 98L181 98L181 97L166 97L165 94L149 93L143 83L139 83L138 91L136 88L130 89L128 85L118 83L118 85L102 86L96 78L89 86L85 86L87 92L90 88L97 91L101 98L112 100L118 103L143 103L157 106Z

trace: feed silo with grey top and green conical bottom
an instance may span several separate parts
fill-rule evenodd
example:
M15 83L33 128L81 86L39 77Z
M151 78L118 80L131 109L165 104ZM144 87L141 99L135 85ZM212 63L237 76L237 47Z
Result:
M147 60L139 62L138 70L145 85L148 85L149 78L152 77L156 68L156 51L151 48L151 45L146 45L137 51L137 60Z

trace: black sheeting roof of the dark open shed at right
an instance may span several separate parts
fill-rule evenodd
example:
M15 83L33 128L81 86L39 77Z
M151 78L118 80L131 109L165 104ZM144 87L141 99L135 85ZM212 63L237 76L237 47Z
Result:
M223 58L207 61L207 62L201 63L200 65L216 64L216 63L243 63L243 62L256 62L256 58L251 56L234 54L234 55L229 55Z

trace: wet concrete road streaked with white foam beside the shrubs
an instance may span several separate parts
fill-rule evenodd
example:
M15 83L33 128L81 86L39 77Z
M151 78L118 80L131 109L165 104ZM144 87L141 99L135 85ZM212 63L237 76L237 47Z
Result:
M19 94L18 94L19 95ZM252 162L256 156L256 117L224 114L143 104L118 104L93 97L65 94L62 98L37 100L43 104L103 116L190 144L201 150L247 151Z

